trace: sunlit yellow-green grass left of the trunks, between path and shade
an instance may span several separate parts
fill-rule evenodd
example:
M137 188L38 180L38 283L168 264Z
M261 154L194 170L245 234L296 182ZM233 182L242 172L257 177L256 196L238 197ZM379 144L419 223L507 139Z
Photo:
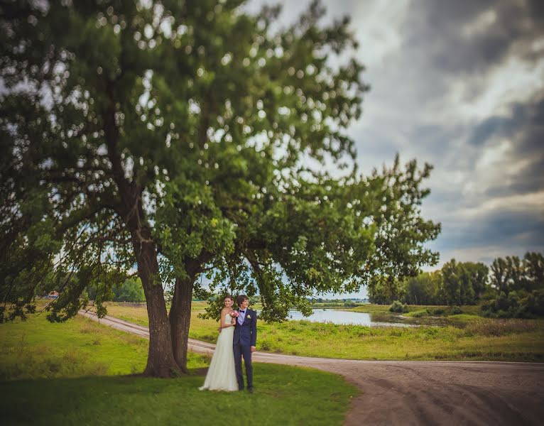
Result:
M146 366L145 339L76 317L50 324L45 315L0 324L0 378L130 374ZM192 366L205 359L192 357Z

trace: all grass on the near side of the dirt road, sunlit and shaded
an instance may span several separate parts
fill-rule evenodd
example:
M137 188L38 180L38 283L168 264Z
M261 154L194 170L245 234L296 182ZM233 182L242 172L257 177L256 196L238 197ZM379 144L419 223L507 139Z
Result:
M189 376L143 378L134 373L148 340L83 317L0 324L0 342L2 425L216 425L241 408L255 425L341 425L359 392L341 376L273 364L254 364L254 394L198 391L209 359L192 353Z

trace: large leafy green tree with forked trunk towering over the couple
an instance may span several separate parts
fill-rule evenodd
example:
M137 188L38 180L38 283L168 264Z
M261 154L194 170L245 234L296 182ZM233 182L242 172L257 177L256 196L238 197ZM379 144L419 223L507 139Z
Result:
M55 288L49 319L66 320L89 285L102 315L136 265L145 373L170 376L185 369L206 271L281 320L316 291L435 261L423 244L440 227L418 209L430 168L345 168L367 89L357 60L333 66L356 47L348 20L322 26L313 3L278 28L278 9L242 3L3 2L3 319Z

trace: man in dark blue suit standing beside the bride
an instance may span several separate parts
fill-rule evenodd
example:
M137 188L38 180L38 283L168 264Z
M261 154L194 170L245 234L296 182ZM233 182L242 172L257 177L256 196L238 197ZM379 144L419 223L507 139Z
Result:
M236 297L240 307L239 316L234 324L234 338L232 349L234 350L234 368L238 389L244 390L244 376L241 373L241 357L244 356L246 366L247 390L253 393L253 367L251 366L251 354L255 351L257 342L257 312L248 309L249 300L246 295Z

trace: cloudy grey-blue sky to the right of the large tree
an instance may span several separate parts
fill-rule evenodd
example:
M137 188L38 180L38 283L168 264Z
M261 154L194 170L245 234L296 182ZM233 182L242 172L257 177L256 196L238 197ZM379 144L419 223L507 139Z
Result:
M287 25L310 2L279 3ZM440 262L426 270L544 252L544 1L322 4L323 23L350 16L371 86L348 129L361 170L396 153L434 166L423 216L442 224Z

